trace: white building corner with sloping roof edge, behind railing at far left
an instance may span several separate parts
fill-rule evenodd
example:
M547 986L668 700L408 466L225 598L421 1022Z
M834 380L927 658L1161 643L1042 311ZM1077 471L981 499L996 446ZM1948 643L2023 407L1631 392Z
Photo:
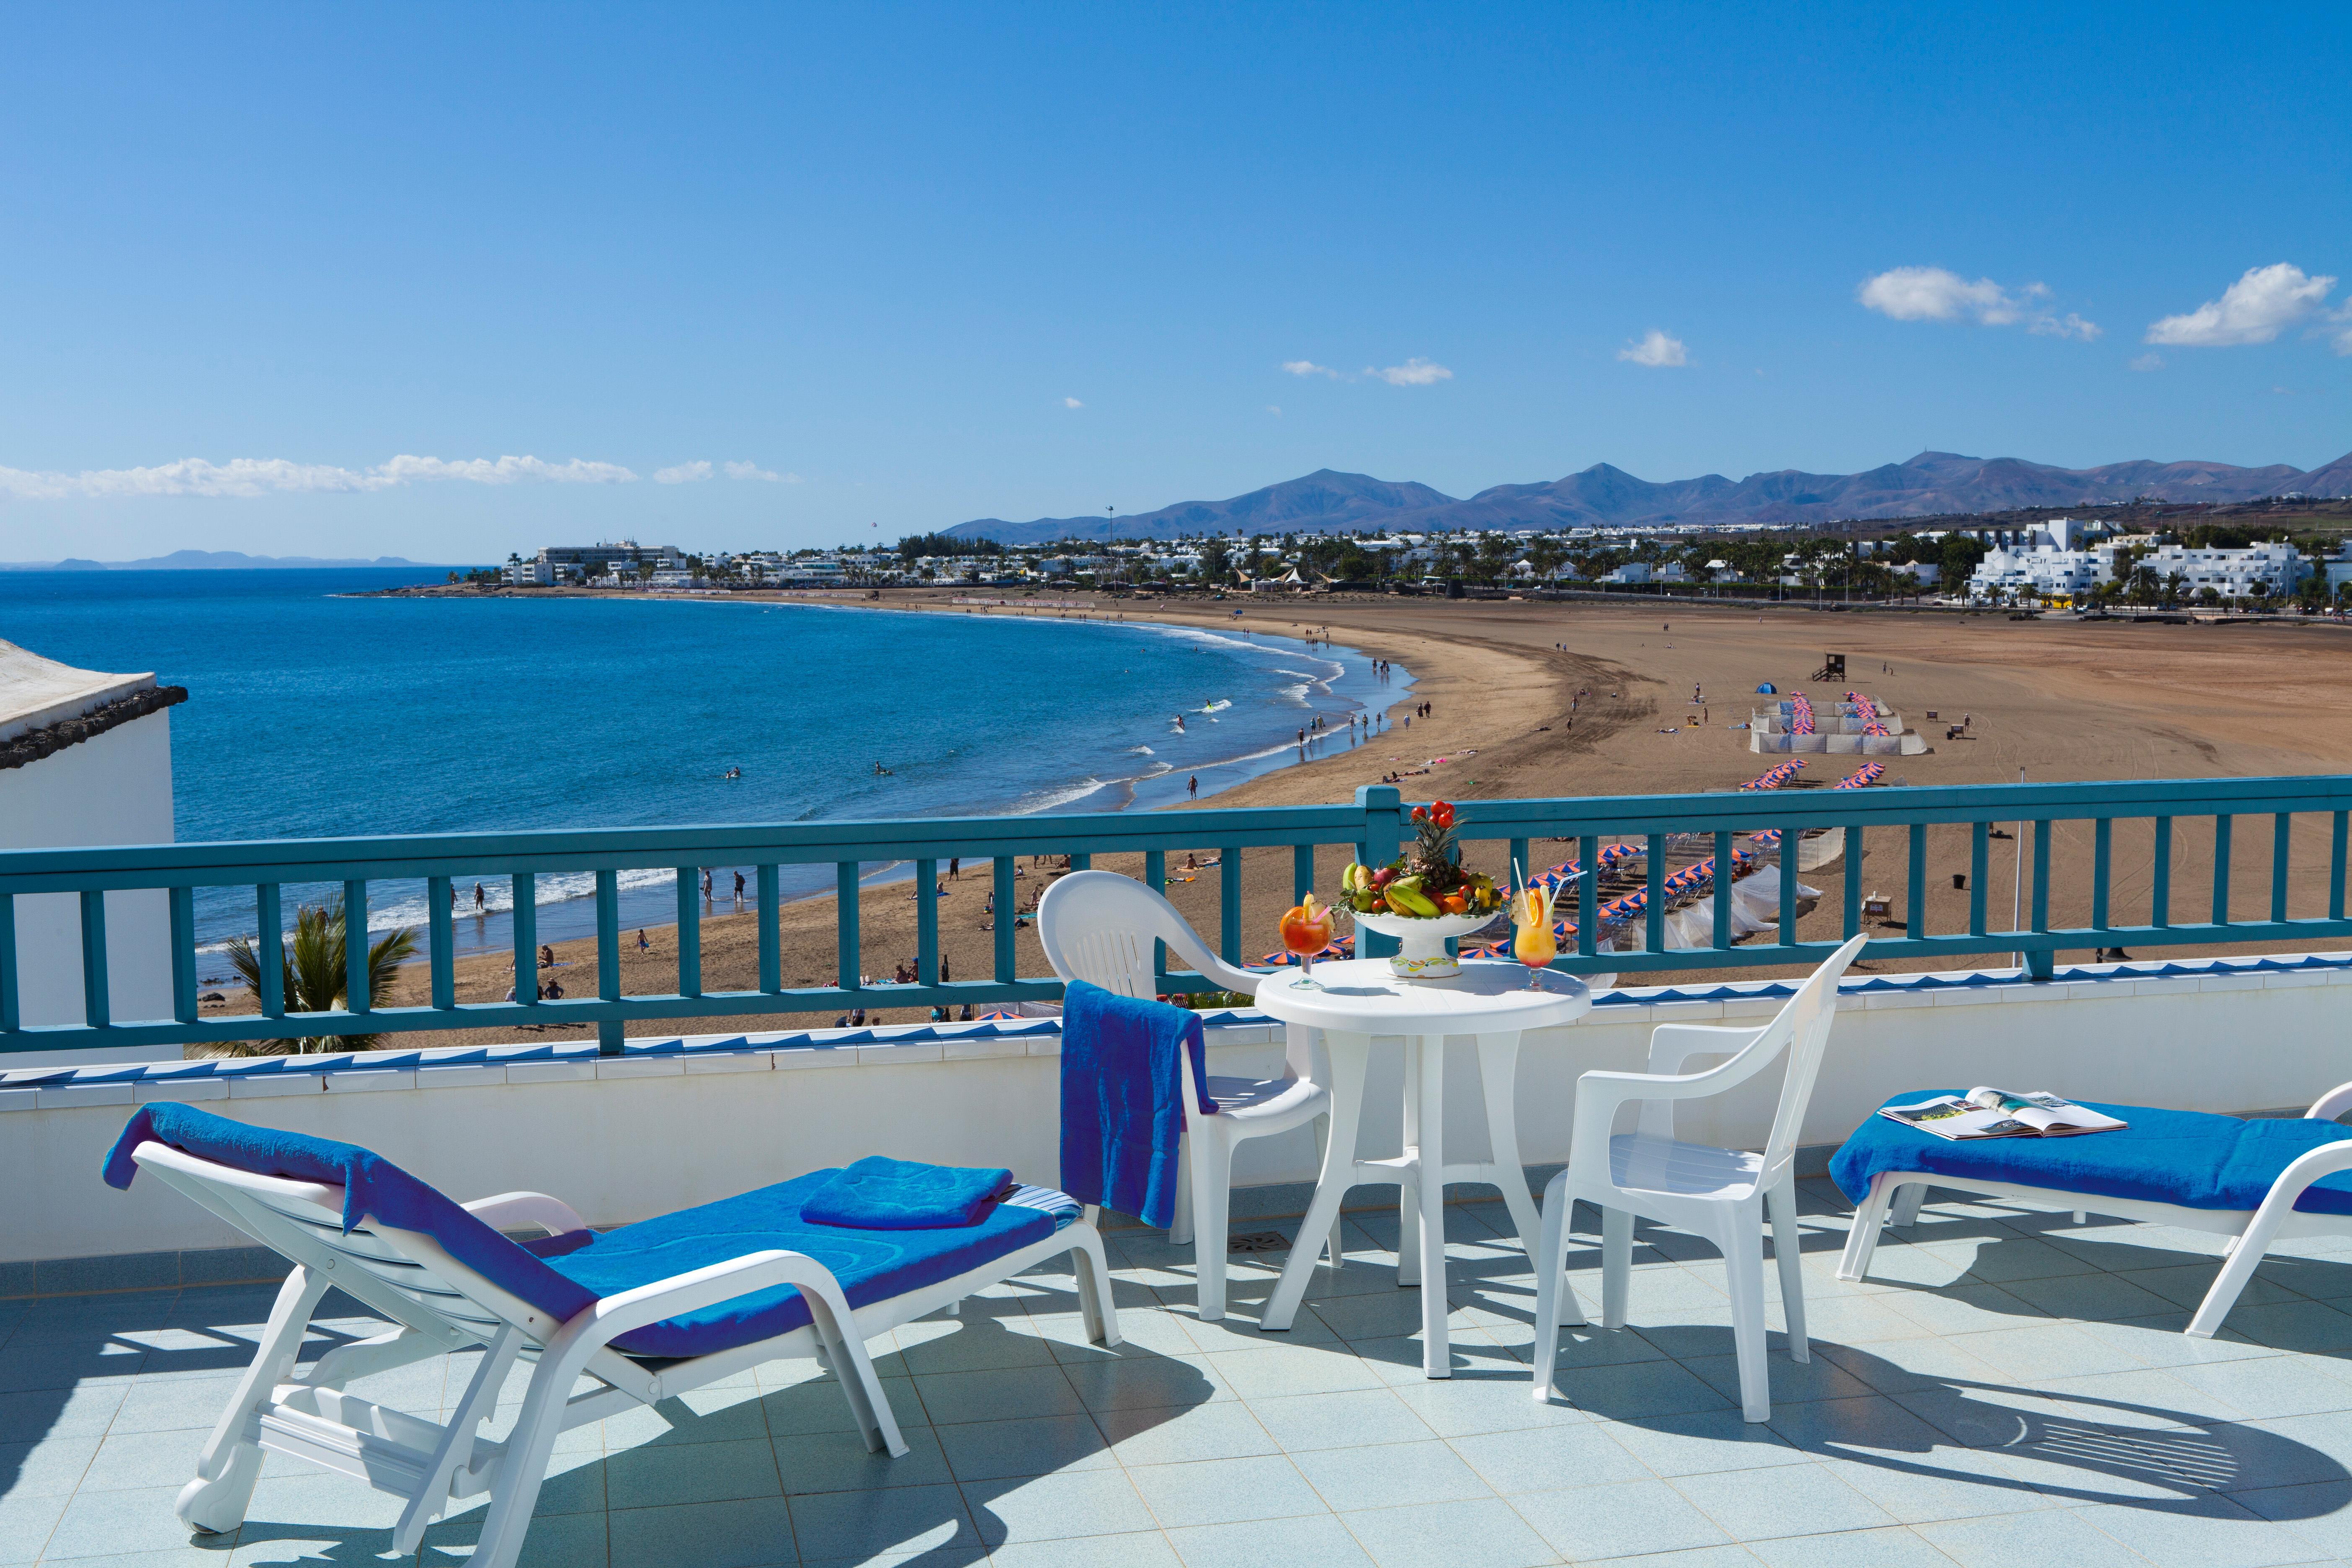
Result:
M172 712L186 686L101 675L0 642L0 849L172 842ZM172 1018L172 912L160 891L106 893L106 997L118 1023ZM73 893L16 898L26 1027L82 1023ZM0 1067L179 1060L179 1046L0 1053Z

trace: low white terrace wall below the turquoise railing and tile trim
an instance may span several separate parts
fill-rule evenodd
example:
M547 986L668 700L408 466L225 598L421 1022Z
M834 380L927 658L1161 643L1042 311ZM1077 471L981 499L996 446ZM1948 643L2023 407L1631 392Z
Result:
M2082 978L2067 978L2082 976ZM1804 1143L1835 1145L1882 1100L1917 1088L2051 1088L2185 1110L2300 1107L2352 1079L2352 954L2253 973L2216 961L2150 978L2060 971L2056 983L1846 997ZM1529 1037L1519 1058L1519 1150L1566 1157L1576 1077L1639 1070L1658 1023L1764 1023L1778 1001L1677 1001L1618 992L1578 1025ZM1270 1027L1216 1030L1214 1070L1275 1072ZM807 1037L802 1037L807 1041ZM1778 1079L1684 1112L1684 1138L1762 1145ZM557 1060L440 1070L353 1070L278 1081L0 1088L0 1265L233 1246L238 1237L141 1180L115 1192L99 1164L139 1098L369 1145L461 1199L553 1192L593 1225L701 1204L861 1154L1009 1164L1058 1173L1058 1041L955 1039L840 1051L743 1048L682 1060ZM1449 1159L1484 1150L1470 1051L1446 1063ZM1376 1053L1367 1157L1397 1152L1397 1051ZM1244 1145L1237 1182L1315 1175L1308 1131ZM1388 1201L1378 1190L1357 1204Z

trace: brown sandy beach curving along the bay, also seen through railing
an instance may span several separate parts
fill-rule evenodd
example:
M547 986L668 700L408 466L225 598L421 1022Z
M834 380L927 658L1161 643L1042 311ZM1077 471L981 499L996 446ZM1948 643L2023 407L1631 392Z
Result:
M1054 595L1075 602L1073 595ZM1256 632L1305 635L1329 628L1334 642L1390 658L1414 677L1397 686L1388 729L1350 748L1343 738L1275 773L1235 785L1200 806L1277 806L1352 799L1357 785L1383 773L1402 780L1406 799L1510 799L1564 795L1661 795L1726 790L1762 773L1773 757L1748 750L1748 733L1729 729L1748 719L1759 682L1783 691L1806 689L1816 703L1842 689L1867 691L1893 705L1933 748L1922 757L1886 759L1884 788L2013 783L2025 769L2032 780L2093 778L2206 778L2260 773L2343 771L2352 759L2352 635L2338 628L2296 625L2157 625L2009 621L2004 616L1947 614L1837 614L1790 607L1705 604L1534 604L1463 599L1301 599L1301 602L1098 602L1094 609L955 607L936 595L887 592L868 602L877 611L929 614L1089 614L1096 618L1240 625ZM722 614L722 607L713 607ZM1846 656L1844 682L1809 682L1820 654ZM1703 701L1691 703L1700 691ZM1578 696L1583 693L1583 696ZM1406 729L1406 705L1428 703L1430 715ZM1929 712L1940 715L1929 722ZM1700 722L1689 724L1691 717ZM1969 736L1945 741L1945 724L1969 719ZM1334 722L1341 715L1331 715ZM1661 733L1672 729L1675 733ZM1345 736L1338 729L1336 736ZM1444 762L1435 762L1444 757ZM1806 788L1825 788L1860 759L1809 757ZM1428 769L1428 771L1418 771ZM1183 809L1178 809L1183 811ZM2324 912L2326 825L2298 820L2291 912ZM1903 835L1872 837L1860 867L1865 891L1893 898L1900 933L1912 914L1903 907ZM2089 823L2060 825L2053 851L2053 905L2058 926L2089 922ZM2013 842L1997 842L1992 924L2006 924ZM1204 842L1197 856L1209 860ZM1557 853L1548 853L1557 851ZM1171 867L1183 863L1171 853ZM1571 849L1550 844L1538 858L1559 860ZM1322 853L1317 877L1336 884L1345 851ZM1141 858L1105 870L1141 875ZM1501 872L1498 844L1472 846L1470 860ZM1964 827L1929 832L1931 931L1966 924L1966 893L1952 889L1950 872L1966 870ZM2145 917L2150 889L2150 830L2119 823L2114 835L2114 910L2119 922ZM2211 877L2211 823L2183 820L2173 844L2176 919L2204 919ZM1021 905L1042 891L1047 870L1023 867ZM1844 860L1806 872L1806 886L1823 898L1804 917L1804 938L1837 933ZM1169 898L1214 940L1218 872L1169 889ZM757 943L750 914L734 912L724 893L703 922L703 987L753 990ZM1244 947L1272 950L1275 922L1289 905L1287 851L1244 856ZM990 973L993 933L983 929L985 867L969 867L941 903L941 954L950 978ZM2241 823L2232 858L2232 907L2239 914L2267 907L2270 825ZM635 931L623 936L621 978L633 994L675 992L675 940L668 929L647 929L652 952L640 954ZM861 973L887 980L898 961L915 954L915 900L901 884L870 886L861 903ZM1049 973L1035 931L1018 933L1018 973ZM569 994L595 990L595 943L557 943L553 971ZM2157 957L2161 950L2133 950ZM783 910L786 985L823 985L835 973L833 900L816 898ZM2089 952L2060 954L2063 961ZM1983 959L1999 964L1999 957ZM1889 964L1886 969L1893 969ZM1731 973L1731 971L1724 971ZM1743 976L1773 973L1745 969ZM503 957L461 959L459 999L489 1001L506 994L510 971ZM235 997L235 994L233 994ZM423 999L423 969L412 966L395 1004ZM207 1006L207 1016L247 1011L242 997ZM868 1020L910 1023L927 1009L877 1009ZM835 1009L797 1016L696 1020L696 1032L830 1025ZM562 1032L576 1034L579 1025ZM633 1025L633 1034L663 1034L656 1025ZM510 1030L407 1034L402 1044L461 1044L508 1037Z

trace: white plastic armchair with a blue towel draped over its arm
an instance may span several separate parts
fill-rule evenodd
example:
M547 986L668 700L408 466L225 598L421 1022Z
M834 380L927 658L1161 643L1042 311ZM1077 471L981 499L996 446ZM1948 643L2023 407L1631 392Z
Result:
M1185 917L1167 898L1134 877L1115 872L1070 872L1037 900L1037 943L1047 964L1063 980L1087 980L1120 997L1155 997L1157 973L1152 943L1167 943L1202 976L1230 992L1258 994L1261 976L1225 964L1200 940ZM1200 1114L1192 1095L1183 1098L1183 1178L1176 1185L1176 1222L1169 1241L1192 1244L1192 1276L1200 1293L1200 1316L1225 1316L1225 1215L1232 1206L1232 1150L1244 1138L1270 1138L1305 1121L1315 1124L1315 1154L1322 1159L1331 1131L1331 1081L1322 1065L1317 1030L1289 1025L1279 1079L1240 1079L1209 1074L1209 1098L1216 1114ZM1094 1211L1087 1211L1094 1218ZM1305 1237L1298 1239L1305 1244ZM1341 1260L1338 1220L1319 1239L1331 1265Z

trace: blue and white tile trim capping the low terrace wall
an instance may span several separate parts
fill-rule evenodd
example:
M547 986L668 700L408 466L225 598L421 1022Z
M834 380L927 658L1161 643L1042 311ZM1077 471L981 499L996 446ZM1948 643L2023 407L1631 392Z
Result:
M2352 952L2300 952L2218 959L2072 964L2051 980L2016 969L1969 969L1907 976L1849 976L1846 1006L1950 1006L2023 997L2098 997L2133 992L2246 990L2274 985L2352 985ZM1778 1004L1797 980L1722 980L1708 985L1635 985L1592 997L1595 1013L1646 1009L1670 1018L1733 1013L1740 1004ZM1663 1018L1661 1018L1663 1020ZM1282 1027L1256 1009L1204 1013L1211 1046L1279 1039ZM621 1056L597 1056L595 1041L452 1046L437 1051L339 1051L325 1056L214 1058L120 1067L19 1067L0 1072L0 1112L73 1105L143 1105L148 1100L247 1100L289 1093L365 1093L372 1088L475 1088L576 1079L673 1077L687 1072L786 1072L797 1067L889 1067L1002 1056L1061 1056L1058 1018L993 1023L922 1023L863 1030L786 1030L755 1034L680 1034L628 1041Z

